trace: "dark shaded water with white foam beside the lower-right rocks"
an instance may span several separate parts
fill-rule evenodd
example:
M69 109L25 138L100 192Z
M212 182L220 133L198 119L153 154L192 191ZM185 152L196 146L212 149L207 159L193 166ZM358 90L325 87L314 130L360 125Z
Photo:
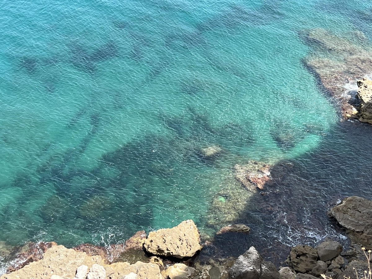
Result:
M327 211L346 196L372 199L371 135L371 125L341 122L312 153L276 164L264 195L254 195L236 220L249 225L250 233L218 237L214 245L223 256L255 246L276 264L297 244L315 246L330 237L347 246L346 233Z

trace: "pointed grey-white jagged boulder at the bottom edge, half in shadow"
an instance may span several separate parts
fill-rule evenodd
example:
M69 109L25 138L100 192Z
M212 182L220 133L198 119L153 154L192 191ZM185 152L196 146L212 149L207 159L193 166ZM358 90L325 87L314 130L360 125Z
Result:
M264 261L253 246L238 257L228 275L229 279L281 279L275 265Z

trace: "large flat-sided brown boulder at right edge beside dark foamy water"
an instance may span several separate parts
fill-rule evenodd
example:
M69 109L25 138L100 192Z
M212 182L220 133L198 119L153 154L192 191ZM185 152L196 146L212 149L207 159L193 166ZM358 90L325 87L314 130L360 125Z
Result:
M372 201L351 196L331 208L330 214L347 229L354 242L372 247Z

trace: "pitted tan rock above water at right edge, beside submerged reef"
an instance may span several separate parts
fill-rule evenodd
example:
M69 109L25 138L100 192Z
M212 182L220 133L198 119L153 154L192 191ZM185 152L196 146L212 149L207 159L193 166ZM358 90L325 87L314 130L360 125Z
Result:
M357 98L360 100L359 120L372 124L372 80L363 77L357 81Z

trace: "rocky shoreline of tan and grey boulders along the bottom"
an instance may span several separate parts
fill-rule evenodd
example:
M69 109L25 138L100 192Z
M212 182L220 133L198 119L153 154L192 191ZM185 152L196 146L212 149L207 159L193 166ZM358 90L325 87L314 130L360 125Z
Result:
M125 243L108 247L26 244L9 251L14 259L0 279L314 279L322 275L342 279L362 274L368 270L362 247L372 248L372 201L351 196L330 208L329 217L346 229L352 245L344 250L333 240L316 247L299 244L279 269L254 246L237 259L216 257L213 240L202 241L194 222L186 220L148 235L139 231ZM230 225L217 234L232 232L248 234L250 228Z

